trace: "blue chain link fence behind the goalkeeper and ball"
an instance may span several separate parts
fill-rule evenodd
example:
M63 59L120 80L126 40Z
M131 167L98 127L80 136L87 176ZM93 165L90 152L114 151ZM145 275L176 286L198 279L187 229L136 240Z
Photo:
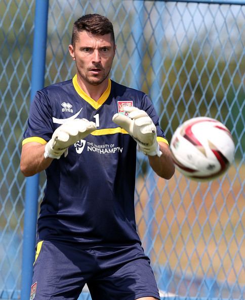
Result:
M45 85L74 75L68 54L73 22L99 13L114 24L111 78L151 96L169 141L180 123L196 116L218 119L233 135L234 164L208 183L191 182L178 171L170 181L158 178L138 156L137 226L166 298L245 298L244 4L49 1ZM0 0L3 299L19 298L21 289L25 178L19 161L30 104L34 10L35 1ZM41 174L39 202L44 186Z

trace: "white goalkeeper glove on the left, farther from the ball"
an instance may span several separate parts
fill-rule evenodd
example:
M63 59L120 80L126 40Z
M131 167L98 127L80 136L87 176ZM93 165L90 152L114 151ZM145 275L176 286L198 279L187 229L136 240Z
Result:
M44 157L59 159L64 152L68 153L70 145L85 138L95 129L95 123L87 119L74 119L62 124L46 144Z

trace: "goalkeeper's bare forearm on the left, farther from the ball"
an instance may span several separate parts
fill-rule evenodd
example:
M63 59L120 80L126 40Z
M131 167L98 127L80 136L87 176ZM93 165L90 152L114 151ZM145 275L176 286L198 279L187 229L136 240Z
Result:
M53 159L44 157L45 145L30 142L22 147L20 170L24 176L35 175L47 169Z

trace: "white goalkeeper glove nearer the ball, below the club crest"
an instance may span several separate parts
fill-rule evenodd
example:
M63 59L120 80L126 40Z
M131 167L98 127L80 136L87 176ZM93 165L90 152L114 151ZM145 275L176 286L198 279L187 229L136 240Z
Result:
M138 149L149 156L160 157L159 144L156 141L156 127L151 118L143 110L136 107L126 106L124 108L128 116L115 114L112 121L124 128L137 141Z

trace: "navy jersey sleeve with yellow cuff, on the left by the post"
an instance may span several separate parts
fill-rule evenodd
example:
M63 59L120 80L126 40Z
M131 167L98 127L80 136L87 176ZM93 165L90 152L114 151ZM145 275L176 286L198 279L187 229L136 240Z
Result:
M30 106L22 145L30 141L45 144L51 139L53 132L52 107L49 98L42 90L37 91Z

